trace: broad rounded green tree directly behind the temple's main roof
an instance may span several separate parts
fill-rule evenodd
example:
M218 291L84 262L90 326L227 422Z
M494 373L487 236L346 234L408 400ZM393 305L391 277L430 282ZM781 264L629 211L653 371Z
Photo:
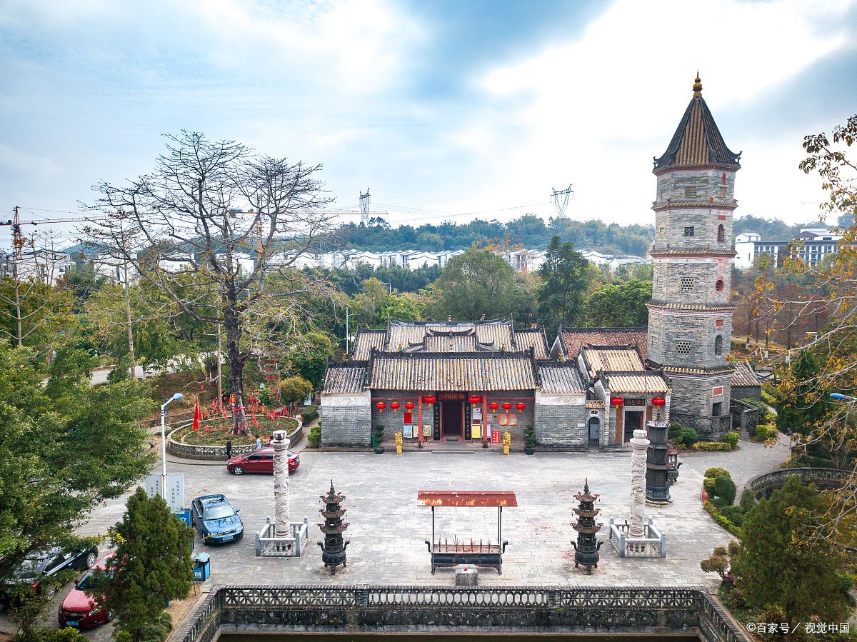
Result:
M468 249L453 257L434 285L440 291L432 306L436 319L532 319L535 297L526 282L488 249Z

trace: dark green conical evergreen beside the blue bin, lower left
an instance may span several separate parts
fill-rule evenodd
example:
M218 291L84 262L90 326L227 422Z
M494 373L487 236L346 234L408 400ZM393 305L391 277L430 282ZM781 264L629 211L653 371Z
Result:
M159 620L169 600L188 596L193 581L194 531L170 512L164 498L137 488L111 531L116 555L87 594L117 616L117 631L132 642ZM112 573L111 573L112 572Z

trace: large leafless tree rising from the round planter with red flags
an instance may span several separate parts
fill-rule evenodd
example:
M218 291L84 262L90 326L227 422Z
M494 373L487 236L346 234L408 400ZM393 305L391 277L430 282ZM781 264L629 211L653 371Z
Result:
M247 431L243 337L267 309L307 291L265 288L267 272L291 267L331 231L332 202L316 178L321 165L290 164L235 141L183 131L166 135L152 172L124 185L99 183L88 207L110 219L86 228L97 243L176 303L183 314L223 328L233 431ZM276 257L276 260L273 260ZM194 286L187 287L188 275Z

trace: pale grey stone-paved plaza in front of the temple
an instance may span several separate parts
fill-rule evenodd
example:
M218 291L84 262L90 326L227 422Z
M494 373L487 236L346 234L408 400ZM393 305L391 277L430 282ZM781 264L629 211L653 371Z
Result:
M241 508L246 534L238 543L206 547L196 538L196 550L211 554L212 579L207 584L417 584L452 585L451 569L432 576L424 540L430 538L431 509L417 507L419 489L512 490L518 507L503 511L503 538L509 541L503 573L481 568L482 585L716 585L716 577L699 569L699 561L730 536L704 512L699 501L703 472L722 465L742 485L760 472L780 465L787 447L765 448L741 442L734 453L683 455L679 483L672 487L673 504L647 507L647 515L666 532L667 559L620 560L609 543L601 548L601 563L591 575L574 568L570 523L577 506L573 496L583 488L601 494L596 507L604 523L629 515L630 452L523 453L504 456L495 450L471 454L407 451L397 456L375 453L317 453L304 451L300 468L291 475L292 520L309 517L309 547L301 559L257 558L254 533L273 515L273 477L230 475L225 465L171 461L169 471L183 472L186 501L196 495L223 492ZM345 537L348 567L331 577L321 566L319 495L330 486L346 495ZM121 518L125 498L100 507L84 534L103 533ZM453 536L482 537L496 542L495 508L439 508L438 531ZM61 591L61 596L70 586ZM58 603L58 601L57 601ZM56 606L49 614L56 616ZM0 629L9 630L2 622ZM109 639L108 627L89 634Z

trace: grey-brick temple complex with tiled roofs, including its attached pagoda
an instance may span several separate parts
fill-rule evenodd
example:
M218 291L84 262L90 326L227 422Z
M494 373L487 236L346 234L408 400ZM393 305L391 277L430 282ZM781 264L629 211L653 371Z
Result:
M500 447L532 423L540 449L622 447L650 419L717 440L747 429L758 379L727 361L735 172L699 78L657 179L649 327L540 328L511 321L393 321L357 333L330 363L321 393L323 446L369 447L372 429L405 441ZM741 414L743 413L743 415ZM422 444L421 444L422 445Z

